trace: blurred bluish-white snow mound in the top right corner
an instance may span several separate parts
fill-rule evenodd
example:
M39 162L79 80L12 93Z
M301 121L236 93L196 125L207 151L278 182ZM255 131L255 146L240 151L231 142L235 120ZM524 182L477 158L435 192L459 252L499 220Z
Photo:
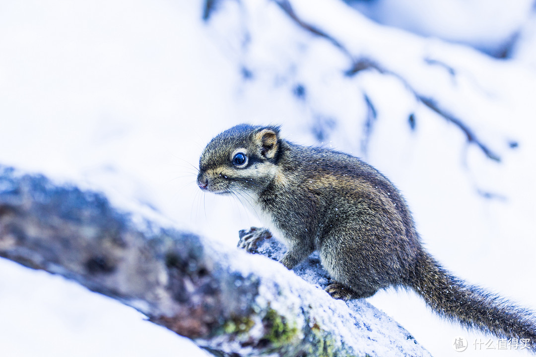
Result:
M464 43L493 55L501 54L534 3L532 0L508 5L500 0L347 2L380 24Z

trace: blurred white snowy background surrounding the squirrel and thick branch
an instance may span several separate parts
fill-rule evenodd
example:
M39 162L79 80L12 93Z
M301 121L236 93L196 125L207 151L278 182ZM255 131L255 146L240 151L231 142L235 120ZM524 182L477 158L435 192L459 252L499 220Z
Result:
M399 78L346 77L347 58L329 41L304 32L273 2L245 2L222 2L207 22L202 1L2 2L0 163L98 189L118 207L142 202L177 226L235 246L237 231L258 221L233 199L199 191L198 156L232 125L282 124L288 139L375 165L403 192L426 247L445 267L536 309L533 2L352 4L381 25L338 0L324 1L336 3L333 11L300 2L339 34L341 19L362 21L367 32L346 34L348 43L442 98L500 163L467 145ZM392 52L378 34L397 44ZM494 57L512 39L507 58ZM422 48L456 77L442 66L435 77L420 75L412 60L422 57L412 51ZM363 93L377 111L366 152ZM460 355L452 348L457 336L470 344L463 356L526 355L474 351L475 339L489 338L441 320L412 292L391 289L368 300L434 356ZM205 355L131 308L4 259L0 346L3 356Z

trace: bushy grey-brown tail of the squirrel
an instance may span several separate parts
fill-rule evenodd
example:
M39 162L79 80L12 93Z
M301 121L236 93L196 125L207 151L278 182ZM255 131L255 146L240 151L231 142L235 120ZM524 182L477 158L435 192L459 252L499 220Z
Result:
M438 314L499 338L517 338L536 354L536 314L530 310L452 276L425 251L413 274L410 285Z

